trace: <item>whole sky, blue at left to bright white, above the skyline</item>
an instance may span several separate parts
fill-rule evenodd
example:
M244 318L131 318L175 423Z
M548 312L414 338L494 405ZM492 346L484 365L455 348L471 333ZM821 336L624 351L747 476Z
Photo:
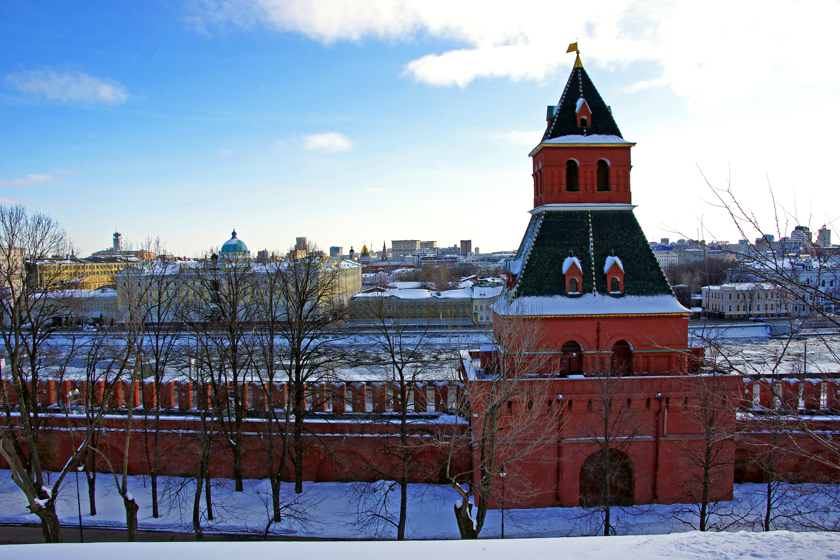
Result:
M731 177L768 233L768 181L795 210L780 229L818 228L840 217L838 13L816 1L8 0L0 198L55 217L85 254L115 229L186 255L232 228L252 251L297 235L345 251L402 238L512 249L531 207L528 152L580 38L638 142L648 238L694 237L701 222L701 237L740 237L704 202L701 170L716 186Z

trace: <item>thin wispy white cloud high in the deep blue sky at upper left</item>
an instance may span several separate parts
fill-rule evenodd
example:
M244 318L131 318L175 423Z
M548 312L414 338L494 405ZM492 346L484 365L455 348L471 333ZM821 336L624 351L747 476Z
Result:
M6 76L9 85L19 91L47 99L89 103L123 103L129 98L125 86L107 78L83 72L27 71Z

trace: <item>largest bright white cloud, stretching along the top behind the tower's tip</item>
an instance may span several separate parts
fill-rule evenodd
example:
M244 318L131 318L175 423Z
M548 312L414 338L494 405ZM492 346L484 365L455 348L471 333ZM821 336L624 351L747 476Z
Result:
M566 46L580 38L585 65L653 61L661 76L634 87L669 86L690 107L722 107L770 78L786 83L837 74L840 3L706 3L668 0L219 0L203 18L261 22L323 44L423 35L465 48L429 53L404 75L434 86L477 78L543 80L568 68ZM802 33L802 29L808 29Z

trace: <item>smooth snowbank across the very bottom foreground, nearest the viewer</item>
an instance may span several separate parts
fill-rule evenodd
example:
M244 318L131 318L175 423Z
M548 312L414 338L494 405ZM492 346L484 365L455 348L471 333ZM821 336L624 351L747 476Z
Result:
M228 560L277 558L311 560L380 560L386 558L454 557L575 558L575 560L711 560L773 558L774 560L836 560L840 534L794 533L676 533L656 536L585 536L571 539L539 538L528 541L456 542L98 542L86 544L30 544L3 547L15 560L86 558L87 560Z

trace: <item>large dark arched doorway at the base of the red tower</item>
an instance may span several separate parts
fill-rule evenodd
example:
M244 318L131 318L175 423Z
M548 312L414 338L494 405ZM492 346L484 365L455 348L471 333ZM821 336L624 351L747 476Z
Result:
M596 451L580 467L580 507L607 503L633 505L633 462L618 449Z

